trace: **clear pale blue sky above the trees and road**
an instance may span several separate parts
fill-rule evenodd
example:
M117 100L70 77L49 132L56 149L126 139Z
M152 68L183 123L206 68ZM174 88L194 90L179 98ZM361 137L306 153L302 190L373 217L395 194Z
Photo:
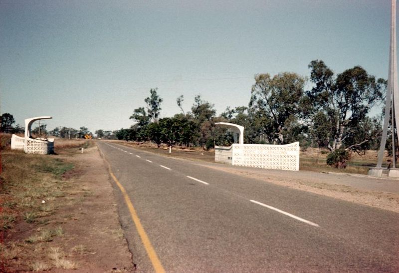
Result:
M387 78L391 0L0 0L0 114L129 128L151 88L161 117L194 97L247 106L254 75L323 60Z

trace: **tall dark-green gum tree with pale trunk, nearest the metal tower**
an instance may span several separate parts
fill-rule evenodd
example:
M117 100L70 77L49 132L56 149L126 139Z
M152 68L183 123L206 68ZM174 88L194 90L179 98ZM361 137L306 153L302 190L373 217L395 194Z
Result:
M369 133L360 132L359 125L367 122L370 109L382 102L387 81L369 75L361 66L347 69L334 76L322 60L313 60L310 81L313 88L307 91L313 108L309 110L318 142L327 144L333 152L337 149L358 150L378 135L371 128ZM324 123L324 125L322 124ZM327 129L327 125L329 129ZM363 145L363 146L362 146Z

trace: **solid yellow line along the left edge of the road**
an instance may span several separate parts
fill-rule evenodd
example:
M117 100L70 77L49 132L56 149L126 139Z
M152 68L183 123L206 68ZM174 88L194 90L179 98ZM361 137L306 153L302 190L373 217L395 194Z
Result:
M136 225L137 232L140 235L141 241L143 242L144 248L147 251L147 255L151 260L151 263L153 264L154 270L156 273L165 273L164 267L161 264L161 261L158 258L157 253L154 250L154 247L152 246L150 239L147 236L147 233L145 232L143 226L141 225L139 216L136 213L135 208L133 207L132 201L130 201L129 195L127 194L125 188L119 183L118 179L115 177L115 175L111 171L111 165L108 163L108 161L105 159L105 162L108 164L108 169L109 173L112 177L112 179L115 181L116 185L118 185L119 189L121 190L123 197L125 198L126 205L129 208L130 215L132 216L132 220L134 224Z

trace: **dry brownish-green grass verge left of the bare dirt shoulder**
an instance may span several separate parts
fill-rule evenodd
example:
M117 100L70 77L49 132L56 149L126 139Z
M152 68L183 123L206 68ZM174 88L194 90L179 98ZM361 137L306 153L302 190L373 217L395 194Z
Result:
M56 155L11 151L9 137L0 134L0 272L9 267L15 271L76 268L59 247L49 245L64 236L61 223L50 217L69 202L67 195L75 186L64 175L74 165ZM84 140L57 140L55 151L72 155L88 145Z

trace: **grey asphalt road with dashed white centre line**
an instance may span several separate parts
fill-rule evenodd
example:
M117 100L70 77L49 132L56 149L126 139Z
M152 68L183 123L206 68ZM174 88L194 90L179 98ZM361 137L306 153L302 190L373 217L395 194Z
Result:
M399 272L397 213L97 144L138 272Z

